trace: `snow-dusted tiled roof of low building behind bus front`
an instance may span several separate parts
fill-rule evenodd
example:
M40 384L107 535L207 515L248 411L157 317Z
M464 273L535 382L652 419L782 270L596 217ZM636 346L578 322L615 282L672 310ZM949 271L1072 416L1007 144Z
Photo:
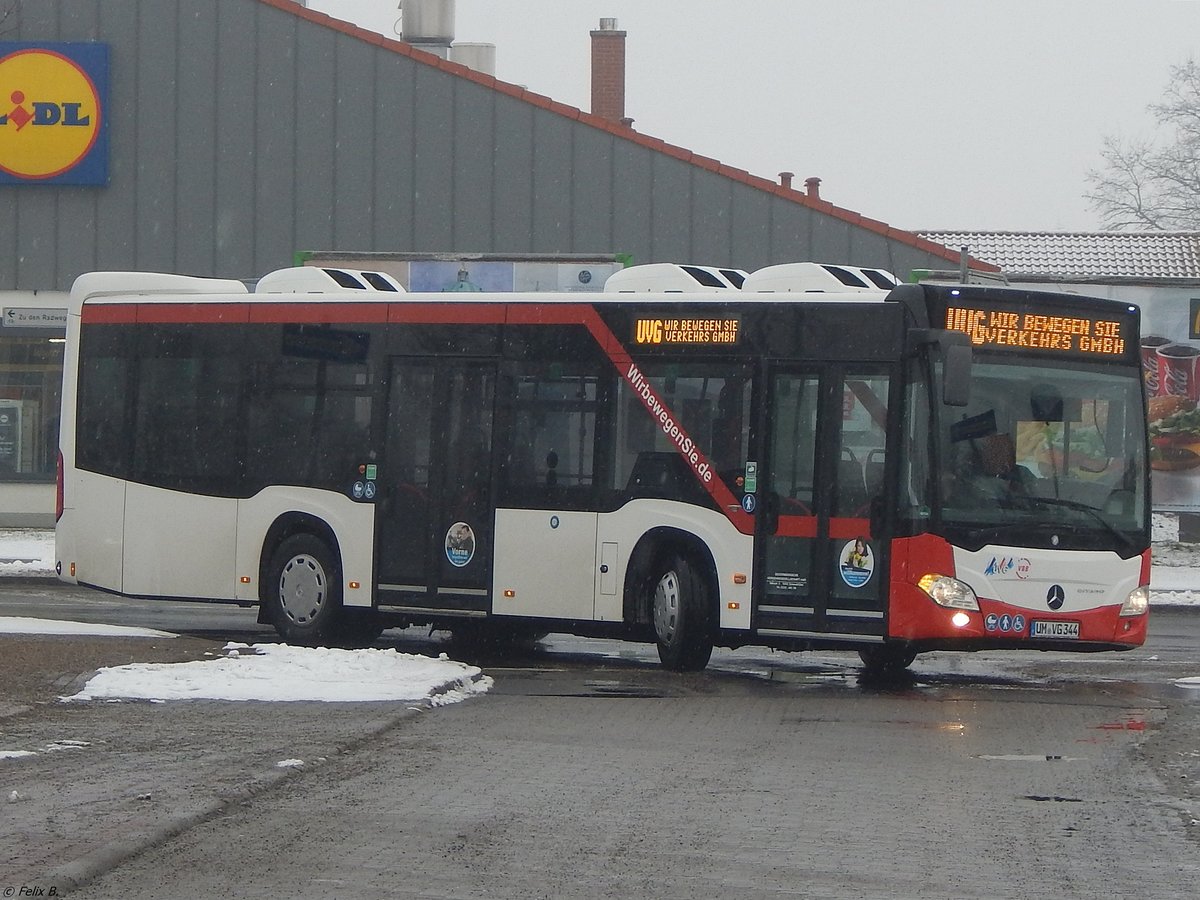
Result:
M1200 232L918 232L1006 274L1200 278Z

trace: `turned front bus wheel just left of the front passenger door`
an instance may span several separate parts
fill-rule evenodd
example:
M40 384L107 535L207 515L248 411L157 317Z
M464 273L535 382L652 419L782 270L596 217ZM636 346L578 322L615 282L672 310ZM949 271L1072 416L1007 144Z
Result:
M649 584L659 660L673 672L698 672L713 655L708 580L684 557L660 563Z

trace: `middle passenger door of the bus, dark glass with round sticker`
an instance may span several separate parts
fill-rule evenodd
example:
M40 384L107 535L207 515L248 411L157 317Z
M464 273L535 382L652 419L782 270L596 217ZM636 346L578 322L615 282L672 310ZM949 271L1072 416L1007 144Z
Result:
M392 360L379 467L379 605L480 614L492 568L496 370Z

